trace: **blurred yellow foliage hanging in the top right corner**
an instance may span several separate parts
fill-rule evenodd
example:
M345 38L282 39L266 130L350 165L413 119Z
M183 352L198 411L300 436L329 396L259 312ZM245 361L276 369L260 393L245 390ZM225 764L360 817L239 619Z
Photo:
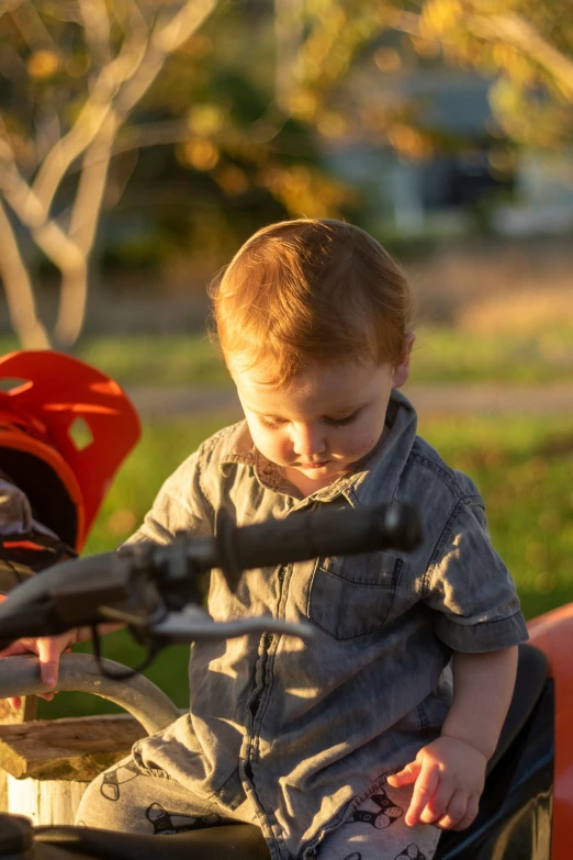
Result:
M422 57L492 79L499 129L531 147L570 145L573 16L570 0L420 0L389 12ZM417 7L417 9L415 9Z

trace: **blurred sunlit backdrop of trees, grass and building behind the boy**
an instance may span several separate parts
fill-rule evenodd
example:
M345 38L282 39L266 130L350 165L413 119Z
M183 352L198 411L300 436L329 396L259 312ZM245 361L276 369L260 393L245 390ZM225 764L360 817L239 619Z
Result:
M209 279L263 224L342 217L411 277L406 393L526 615L573 599L572 46L569 0L0 3L1 351L94 364L145 426L88 552L239 417ZM186 660L149 671L180 705Z

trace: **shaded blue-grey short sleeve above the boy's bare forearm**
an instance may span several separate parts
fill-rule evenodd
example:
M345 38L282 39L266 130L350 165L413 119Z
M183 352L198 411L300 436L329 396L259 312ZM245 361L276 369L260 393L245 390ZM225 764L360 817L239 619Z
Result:
M460 501L424 578L436 635L454 651L479 654L526 641L515 584L487 534L483 503Z

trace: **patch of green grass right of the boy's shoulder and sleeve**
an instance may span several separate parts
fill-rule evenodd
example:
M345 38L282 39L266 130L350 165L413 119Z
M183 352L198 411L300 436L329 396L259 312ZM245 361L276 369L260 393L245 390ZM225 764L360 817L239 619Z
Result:
M573 600L573 415L426 421L425 435L478 483L526 617Z

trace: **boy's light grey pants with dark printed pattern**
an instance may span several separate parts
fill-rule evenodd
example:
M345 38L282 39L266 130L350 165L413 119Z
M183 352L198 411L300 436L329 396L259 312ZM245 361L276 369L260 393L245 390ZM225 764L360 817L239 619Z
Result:
M408 827L404 814L412 789L378 789L318 848L318 860L431 860L440 831L430 825ZM92 783L76 823L122 833L167 836L229 822L256 824L245 798L233 812L216 801L205 804L162 771L149 775L128 756Z

